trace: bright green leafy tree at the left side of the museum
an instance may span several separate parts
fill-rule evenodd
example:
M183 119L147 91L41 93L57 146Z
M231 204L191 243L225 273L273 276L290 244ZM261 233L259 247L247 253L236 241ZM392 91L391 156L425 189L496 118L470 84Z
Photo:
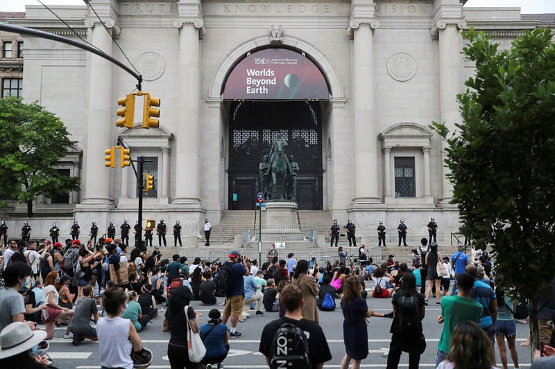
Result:
M50 111L13 97L0 99L0 193L27 204L33 217L38 195L54 197L79 189L78 178L61 174L54 167L76 142ZM6 206L3 201L0 203Z

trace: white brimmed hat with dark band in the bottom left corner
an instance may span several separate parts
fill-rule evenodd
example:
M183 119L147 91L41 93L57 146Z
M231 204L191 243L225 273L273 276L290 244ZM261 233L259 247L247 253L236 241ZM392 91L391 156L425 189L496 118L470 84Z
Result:
M13 322L0 332L0 359L30 350L46 338L46 331L32 331L27 323Z

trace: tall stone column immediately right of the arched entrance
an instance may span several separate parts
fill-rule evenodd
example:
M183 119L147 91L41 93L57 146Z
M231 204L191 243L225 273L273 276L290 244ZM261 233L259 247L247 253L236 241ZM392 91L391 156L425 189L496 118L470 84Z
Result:
M373 48L373 28L378 26L375 20L350 22L354 30L352 94L355 204L378 202Z

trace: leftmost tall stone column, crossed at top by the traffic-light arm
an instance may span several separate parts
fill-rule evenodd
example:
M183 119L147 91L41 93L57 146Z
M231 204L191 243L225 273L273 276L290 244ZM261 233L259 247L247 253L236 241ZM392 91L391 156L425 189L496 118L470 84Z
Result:
M106 26L115 26L113 19L105 20ZM112 54L112 38L101 24L92 19L85 21L92 28L91 42L108 55ZM97 55L90 57L89 111L87 120L87 143L84 152L85 176L82 204L96 208L110 208L110 168L104 165L104 150L115 143L111 135L115 116L112 116L112 63Z

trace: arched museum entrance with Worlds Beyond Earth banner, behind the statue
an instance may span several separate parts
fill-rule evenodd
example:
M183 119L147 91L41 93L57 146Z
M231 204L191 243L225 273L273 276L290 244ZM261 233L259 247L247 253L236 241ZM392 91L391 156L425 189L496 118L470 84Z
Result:
M323 208L323 114L330 89L318 66L289 48L248 53L223 86L228 117L228 208L253 209L259 163L280 134L298 163L300 209Z

